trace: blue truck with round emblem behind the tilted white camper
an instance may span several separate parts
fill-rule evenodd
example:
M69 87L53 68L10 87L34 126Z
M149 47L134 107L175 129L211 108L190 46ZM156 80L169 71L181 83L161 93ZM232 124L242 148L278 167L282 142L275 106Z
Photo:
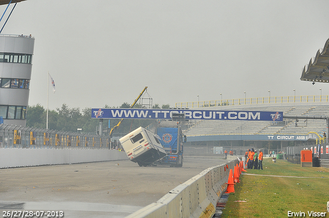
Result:
M171 167L183 166L183 143L186 136L182 134L180 128L156 128L156 134L161 138L161 145L165 149L167 156L153 163L153 166L165 165Z

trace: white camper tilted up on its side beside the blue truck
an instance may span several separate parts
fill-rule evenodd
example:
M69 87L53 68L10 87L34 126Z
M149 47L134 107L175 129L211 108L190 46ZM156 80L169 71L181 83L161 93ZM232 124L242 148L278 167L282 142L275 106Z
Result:
M149 166L167 155L159 140L158 135L143 127L119 139L129 159L139 166Z

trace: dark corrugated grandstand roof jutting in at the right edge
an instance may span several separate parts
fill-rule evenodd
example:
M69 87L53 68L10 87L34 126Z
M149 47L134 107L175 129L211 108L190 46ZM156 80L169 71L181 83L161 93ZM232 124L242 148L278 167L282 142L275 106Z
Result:
M304 66L300 80L329 83L329 38L323 49L319 49L315 57Z

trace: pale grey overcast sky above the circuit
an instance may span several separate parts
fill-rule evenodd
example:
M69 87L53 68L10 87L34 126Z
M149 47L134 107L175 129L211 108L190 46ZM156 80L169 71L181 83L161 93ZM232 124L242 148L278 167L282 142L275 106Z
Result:
M27 0L2 33L35 37L30 106L46 108L49 71L49 109L132 104L145 86L153 104L173 107L220 93L329 95L329 84L300 81L329 38L328 8L327 0Z

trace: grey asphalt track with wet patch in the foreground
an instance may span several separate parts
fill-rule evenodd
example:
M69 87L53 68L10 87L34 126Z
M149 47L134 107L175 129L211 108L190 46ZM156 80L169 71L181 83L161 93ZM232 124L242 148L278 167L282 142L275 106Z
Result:
M181 168L139 167L127 160L0 169L0 217L8 210L63 211L66 218L125 217L225 162L185 157Z

